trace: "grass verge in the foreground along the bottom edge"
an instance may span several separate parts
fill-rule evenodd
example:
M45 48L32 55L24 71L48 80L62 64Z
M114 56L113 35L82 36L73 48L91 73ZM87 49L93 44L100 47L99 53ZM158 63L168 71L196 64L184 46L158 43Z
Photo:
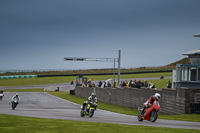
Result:
M92 123L86 121L43 119L5 114L0 114L0 131L2 133L199 133L199 130L193 129Z

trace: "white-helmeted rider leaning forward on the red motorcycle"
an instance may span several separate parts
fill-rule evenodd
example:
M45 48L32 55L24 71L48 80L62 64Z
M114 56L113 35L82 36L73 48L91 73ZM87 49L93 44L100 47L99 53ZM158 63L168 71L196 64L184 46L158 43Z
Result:
M152 97L150 97L144 104L143 104L143 109L142 109L142 114L144 115L145 114L145 110L147 108L149 108L153 102L156 100L156 101L159 101L160 100L160 97L161 95L159 93L156 93L155 95L153 95Z

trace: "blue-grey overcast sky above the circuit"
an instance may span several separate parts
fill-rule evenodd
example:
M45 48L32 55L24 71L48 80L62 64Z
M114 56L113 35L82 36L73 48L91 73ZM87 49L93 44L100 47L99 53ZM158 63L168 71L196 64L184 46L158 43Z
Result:
M0 69L163 66L200 48L200 0L0 0ZM117 66L117 64L116 64Z

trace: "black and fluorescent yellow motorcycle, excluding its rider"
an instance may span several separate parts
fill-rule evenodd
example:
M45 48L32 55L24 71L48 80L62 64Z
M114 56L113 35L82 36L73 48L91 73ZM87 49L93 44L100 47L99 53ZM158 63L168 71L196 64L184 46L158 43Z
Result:
M92 117L94 115L94 111L96 110L96 107L97 107L97 103L95 102L87 103L87 105L84 108L81 106L81 112L80 112L81 117L84 117L86 115L88 115L89 117ZM88 109L89 111L87 111Z

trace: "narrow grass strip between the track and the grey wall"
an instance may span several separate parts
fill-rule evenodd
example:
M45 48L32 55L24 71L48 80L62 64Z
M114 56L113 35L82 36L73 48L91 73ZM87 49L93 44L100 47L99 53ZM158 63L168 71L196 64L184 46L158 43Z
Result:
M86 98L69 95L69 92L48 92L48 93L80 105L82 105L83 101L87 100ZM113 104L107 104L103 102L98 102L98 109L108 110L127 115L134 115L134 116L138 115L137 109L122 107ZM200 122L200 114L165 115L159 113L159 119Z

